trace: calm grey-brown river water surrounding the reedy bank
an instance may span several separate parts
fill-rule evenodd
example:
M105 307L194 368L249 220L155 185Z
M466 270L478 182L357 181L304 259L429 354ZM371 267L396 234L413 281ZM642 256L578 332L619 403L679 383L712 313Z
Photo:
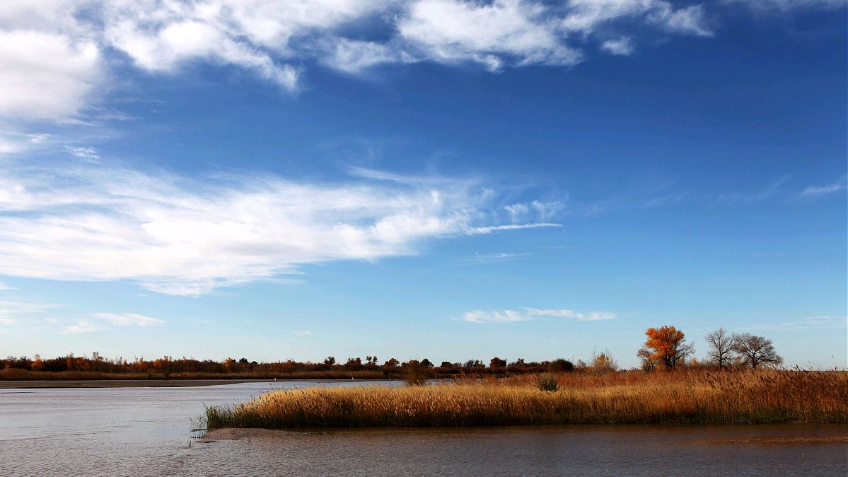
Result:
M0 390L0 475L848 473L846 444L739 441L848 435L848 426L343 429L188 446L204 405L309 384Z

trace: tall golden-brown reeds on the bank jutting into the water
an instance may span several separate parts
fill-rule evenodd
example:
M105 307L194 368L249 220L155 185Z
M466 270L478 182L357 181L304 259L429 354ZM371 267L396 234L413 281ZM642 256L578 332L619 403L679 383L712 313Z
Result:
M209 429L604 423L848 423L848 373L560 374L427 386L280 390L209 407Z

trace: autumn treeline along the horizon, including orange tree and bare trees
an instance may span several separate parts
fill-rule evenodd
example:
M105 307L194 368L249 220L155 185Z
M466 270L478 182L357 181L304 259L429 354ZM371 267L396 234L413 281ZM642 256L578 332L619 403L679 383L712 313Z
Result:
M678 368L769 368L783 364L783 357L774 350L772 340L753 334L734 334L724 328L707 334L707 356L698 360L694 345L685 340L683 331L671 325L648 328L648 340L636 352L641 368L648 373L657 370ZM478 359L466 362L431 362L411 359L400 362L389 358L380 362L377 356L349 357L337 362L335 356L327 356L323 362L256 362L246 357L226 358L224 361L197 360L183 356L162 356L153 360L124 357L109 359L97 351L92 356L59 356L42 359L36 355L8 356L0 359L0 379L379 379L404 378L413 380L427 378L451 378L457 375L507 375L527 373L609 373L618 370L618 363L610 351L595 353L589 362L571 362L558 358L553 361L525 362L494 356L488 364Z

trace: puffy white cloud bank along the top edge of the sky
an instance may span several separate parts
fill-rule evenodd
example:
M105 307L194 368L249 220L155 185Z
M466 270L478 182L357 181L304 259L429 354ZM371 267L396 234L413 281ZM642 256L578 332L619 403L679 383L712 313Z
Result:
M616 34L711 36L701 5L667 0L7 0L0 118L73 121L131 70L232 66L297 92L304 65L474 64L491 71L629 54ZM129 68L129 70L128 70Z

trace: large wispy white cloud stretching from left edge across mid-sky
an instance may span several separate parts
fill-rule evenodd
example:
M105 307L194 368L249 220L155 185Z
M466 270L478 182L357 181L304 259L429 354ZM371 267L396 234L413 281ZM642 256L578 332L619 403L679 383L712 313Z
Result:
M438 177L198 183L87 165L10 167L0 171L0 263L9 276L132 279L198 295L306 263L411 255L425 239L558 225L486 225L501 210L495 199L475 181Z

